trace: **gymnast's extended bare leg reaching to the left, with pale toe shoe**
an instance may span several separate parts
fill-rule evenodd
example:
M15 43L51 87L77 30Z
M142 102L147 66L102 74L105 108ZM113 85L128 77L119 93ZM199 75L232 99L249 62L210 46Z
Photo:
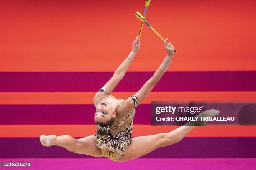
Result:
M61 146L70 152L86 154L94 157L102 157L99 148L95 146L95 136L87 136L80 139L72 138L70 135L41 135L41 144L44 146Z

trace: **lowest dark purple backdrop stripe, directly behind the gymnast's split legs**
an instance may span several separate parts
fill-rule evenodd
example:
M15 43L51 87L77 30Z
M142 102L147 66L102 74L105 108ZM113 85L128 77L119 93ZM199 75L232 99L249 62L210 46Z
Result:
M256 137L190 137L142 158L256 158ZM44 147L38 138L0 138L0 158L92 158L59 146Z

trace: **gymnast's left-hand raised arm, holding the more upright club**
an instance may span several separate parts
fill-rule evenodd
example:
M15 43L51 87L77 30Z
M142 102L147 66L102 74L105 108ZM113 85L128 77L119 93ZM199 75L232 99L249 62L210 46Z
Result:
M125 73L127 72L131 61L133 60L133 57L137 54L138 50L140 49L140 40L138 40L138 36L132 43L132 50L128 57L125 58L125 60L121 63L121 65L115 70L113 76L110 78L110 80L104 85L106 88L108 94L110 94L116 85L123 79ZM97 92L93 98L93 101L97 100L98 97L101 97L103 94Z

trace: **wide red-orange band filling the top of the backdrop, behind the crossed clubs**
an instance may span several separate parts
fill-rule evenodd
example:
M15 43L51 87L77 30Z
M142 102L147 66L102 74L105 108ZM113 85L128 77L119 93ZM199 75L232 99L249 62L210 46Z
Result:
M141 23L143 0L0 1L0 71L114 71ZM148 22L178 50L168 70L256 70L256 1L152 0ZM166 52L146 25L130 71Z

